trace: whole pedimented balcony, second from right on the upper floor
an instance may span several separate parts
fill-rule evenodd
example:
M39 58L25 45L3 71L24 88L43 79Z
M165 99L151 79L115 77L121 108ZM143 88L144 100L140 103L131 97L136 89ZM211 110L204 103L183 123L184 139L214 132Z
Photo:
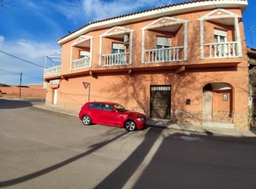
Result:
M142 63L186 61L188 22L167 16L144 26L142 28Z

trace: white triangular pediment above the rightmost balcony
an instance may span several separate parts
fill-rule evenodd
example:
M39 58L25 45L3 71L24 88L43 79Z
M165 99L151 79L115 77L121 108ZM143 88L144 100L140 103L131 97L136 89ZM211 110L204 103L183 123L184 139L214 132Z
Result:
M220 18L240 18L240 16L225 9L215 9L213 11L210 11L210 13L207 13L205 16L199 18L198 21L214 20Z

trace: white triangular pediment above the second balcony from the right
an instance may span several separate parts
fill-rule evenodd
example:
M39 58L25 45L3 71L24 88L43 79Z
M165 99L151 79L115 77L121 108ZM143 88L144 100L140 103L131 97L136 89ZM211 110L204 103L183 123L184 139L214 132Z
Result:
M166 26L174 26L174 25L188 23L188 22L189 21L187 20L183 20L179 18L162 17L157 19L156 21L149 23L149 25L144 26L142 30L151 29L151 28L161 28Z

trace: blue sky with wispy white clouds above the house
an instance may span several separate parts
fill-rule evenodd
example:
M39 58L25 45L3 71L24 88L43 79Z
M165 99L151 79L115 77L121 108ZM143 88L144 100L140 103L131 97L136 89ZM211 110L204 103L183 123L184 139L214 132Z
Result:
M57 39L90 21L181 1L186 0L0 0L0 83L19 85L21 72L23 85L43 83L46 54L60 49ZM247 1L245 39L256 48L256 1Z

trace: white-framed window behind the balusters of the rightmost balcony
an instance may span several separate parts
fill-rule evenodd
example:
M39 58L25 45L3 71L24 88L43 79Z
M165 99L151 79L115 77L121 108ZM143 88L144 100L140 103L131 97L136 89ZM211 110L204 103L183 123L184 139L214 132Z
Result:
M227 32L215 29L214 30L214 42L220 43L215 46L216 54L218 56L220 56L220 55L224 56L225 53L227 53L228 49L222 43L227 42Z

